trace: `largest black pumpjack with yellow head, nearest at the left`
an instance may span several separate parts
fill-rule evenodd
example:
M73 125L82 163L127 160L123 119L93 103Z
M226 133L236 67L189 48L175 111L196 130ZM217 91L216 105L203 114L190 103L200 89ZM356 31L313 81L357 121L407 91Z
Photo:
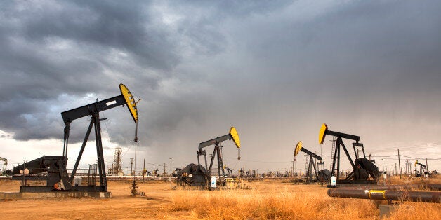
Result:
M47 192L47 191L88 191L88 192L107 192L107 177L105 174L105 164L103 155L103 143L101 141L100 121L107 118L100 118L100 111L112 109L116 106L126 105L129 109L133 121L136 123L136 133L138 132L138 109L133 95L126 88L125 85L119 84L121 95L105 99L100 102L87 104L76 109L64 111L61 113L62 119L65 123L64 129L64 144L62 149L62 156L42 156L35 160L23 163L13 168L13 179L22 180L20 192ZM91 117L91 123L84 137L77 160L75 162L72 173L67 173L67 145L70 135L70 123L72 121L83 118L85 116ZM74 177L77 174L77 169L84 148L94 128L96 139L96 153L98 161L98 175L99 186L96 186L96 164L89 165L88 170L88 184L87 186L79 186L74 184ZM137 135L135 135L135 142ZM27 181L46 181L46 186L28 186Z

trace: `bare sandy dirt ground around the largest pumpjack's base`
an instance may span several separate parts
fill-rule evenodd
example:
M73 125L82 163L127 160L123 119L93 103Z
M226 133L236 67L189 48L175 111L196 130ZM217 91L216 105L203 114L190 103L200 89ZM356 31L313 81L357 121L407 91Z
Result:
M162 212L171 202L166 181L137 182L145 197L130 194L130 181L109 181L112 198L47 198L0 201L0 219L185 219L190 213ZM173 184L174 186L175 184ZM20 181L1 181L0 192L14 192Z

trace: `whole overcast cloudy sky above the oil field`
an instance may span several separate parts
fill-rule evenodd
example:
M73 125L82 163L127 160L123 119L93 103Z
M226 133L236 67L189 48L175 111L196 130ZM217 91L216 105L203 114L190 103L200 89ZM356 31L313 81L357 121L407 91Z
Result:
M240 167L284 172L298 141L319 153L327 123L360 136L380 170L398 163L400 149L402 167L428 158L440 171L440 8L440 1L1 1L0 156L8 168L61 156L60 112L117 96L124 83L141 99L138 170L143 159L147 170L197 163L199 142L235 126ZM106 165L120 146L130 167L129 111L100 116L108 118ZM72 122L71 167L88 119ZM331 139L322 145L327 169ZM93 144L83 167L96 160ZM237 170L235 145L223 146L224 163ZM305 156L295 166L304 170Z

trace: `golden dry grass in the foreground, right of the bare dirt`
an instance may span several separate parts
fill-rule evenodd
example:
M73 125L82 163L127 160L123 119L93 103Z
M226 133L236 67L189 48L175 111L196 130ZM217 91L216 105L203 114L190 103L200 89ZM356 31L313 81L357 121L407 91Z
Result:
M379 219L386 201L329 198L327 188L266 181L251 190L171 193L169 212L190 212L203 219ZM391 219L441 219L441 205L403 202Z

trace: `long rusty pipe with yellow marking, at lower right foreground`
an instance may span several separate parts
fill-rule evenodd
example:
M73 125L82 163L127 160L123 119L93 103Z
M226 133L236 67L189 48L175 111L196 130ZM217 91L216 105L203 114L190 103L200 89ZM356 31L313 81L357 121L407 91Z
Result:
M441 202L441 192L434 191L390 191L330 188L328 195L340 198L362 198L371 200L400 200L412 202Z

